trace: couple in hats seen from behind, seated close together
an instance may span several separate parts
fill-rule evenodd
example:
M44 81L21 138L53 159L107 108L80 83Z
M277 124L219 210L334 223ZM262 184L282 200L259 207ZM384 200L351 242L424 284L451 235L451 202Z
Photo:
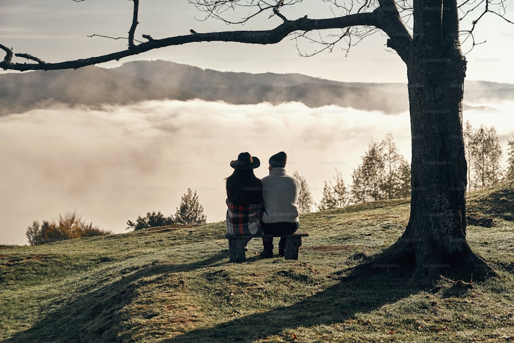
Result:
M239 235L280 236L298 229L300 181L286 174L287 155L279 152L269 158L269 175L260 180L253 169L261 165L249 153L231 161L234 168L227 177L227 232ZM245 243L248 243L246 239ZM273 238L262 239L262 257L273 257ZM279 256L285 255L286 239L279 242Z

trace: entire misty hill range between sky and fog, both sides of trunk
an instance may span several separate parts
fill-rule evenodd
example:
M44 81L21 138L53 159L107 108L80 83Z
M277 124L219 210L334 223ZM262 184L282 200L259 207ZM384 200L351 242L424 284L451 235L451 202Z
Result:
M32 71L0 75L0 115L54 102L95 106L193 98L256 104L288 101L397 114L408 111L407 85L324 80L301 74L249 74L201 69L169 61L133 61L117 68ZM514 98L514 85L467 81L466 103ZM469 106L465 107L469 108Z

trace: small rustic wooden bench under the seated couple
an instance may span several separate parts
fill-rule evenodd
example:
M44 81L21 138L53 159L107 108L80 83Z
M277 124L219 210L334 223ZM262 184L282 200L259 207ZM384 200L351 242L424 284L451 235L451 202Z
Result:
M228 239L228 249L230 251L230 262L245 262L245 238L286 238L286 260L298 260L298 248L302 245L302 237L308 237L307 232L295 232L293 234L283 234L274 236L272 234L257 234L252 236L243 236L240 234L225 234Z

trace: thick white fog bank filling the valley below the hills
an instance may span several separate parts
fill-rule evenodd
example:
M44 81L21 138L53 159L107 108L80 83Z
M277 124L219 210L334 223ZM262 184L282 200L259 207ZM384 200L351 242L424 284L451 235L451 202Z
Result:
M466 110L464 121L493 125L506 156L514 103L473 105L481 107ZM124 232L127 220L148 211L173 214L187 188L197 191L209 222L222 221L229 162L245 151L261 159L258 177L268 174L269 156L285 151L287 171L299 171L319 202L324 180L337 169L350 184L366 147L388 132L410 160L408 113L168 100L0 117L0 243L26 244L34 220L66 211Z

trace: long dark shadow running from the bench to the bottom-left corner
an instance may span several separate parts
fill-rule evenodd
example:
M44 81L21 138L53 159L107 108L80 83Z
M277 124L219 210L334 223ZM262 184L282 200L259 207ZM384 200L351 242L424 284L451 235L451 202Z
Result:
M184 264L150 264L123 269L113 276L117 281L96 290L78 290L73 300L54 303L55 308L36 322L30 329L4 340L5 342L115 342L130 341L119 337L123 322L127 321L120 313L139 295L138 289L155 280L145 280L152 276L187 272L207 266L216 266L227 258L222 251L198 262ZM122 278L119 279L119 276ZM102 280L108 282L108 280Z

